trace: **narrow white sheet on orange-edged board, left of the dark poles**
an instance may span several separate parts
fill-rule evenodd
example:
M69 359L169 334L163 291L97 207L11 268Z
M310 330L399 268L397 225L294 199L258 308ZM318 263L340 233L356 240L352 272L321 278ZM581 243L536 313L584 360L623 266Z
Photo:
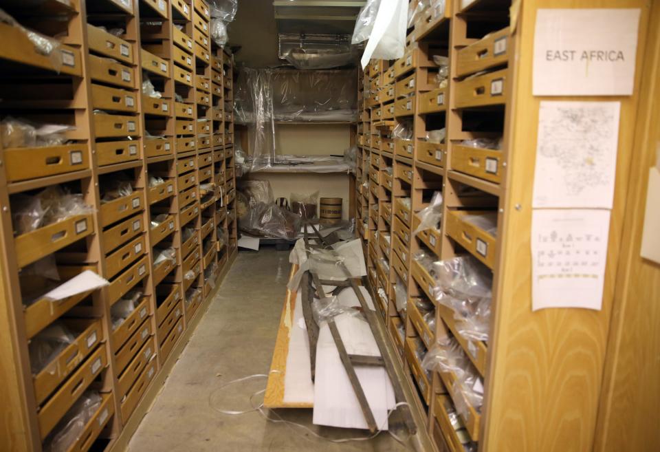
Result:
M285 403L314 403L314 383L311 383L309 338L303 320L300 292L296 295L294 323L289 332L287 372L284 376Z

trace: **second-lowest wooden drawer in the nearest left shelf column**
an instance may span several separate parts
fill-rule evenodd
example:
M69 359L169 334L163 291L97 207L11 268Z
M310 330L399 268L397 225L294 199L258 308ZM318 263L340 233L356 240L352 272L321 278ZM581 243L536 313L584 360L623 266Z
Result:
M107 366L105 347L99 347L85 363L62 385L39 411L39 433L41 440L46 438L53 427L62 419L74 402L91 385L94 378Z

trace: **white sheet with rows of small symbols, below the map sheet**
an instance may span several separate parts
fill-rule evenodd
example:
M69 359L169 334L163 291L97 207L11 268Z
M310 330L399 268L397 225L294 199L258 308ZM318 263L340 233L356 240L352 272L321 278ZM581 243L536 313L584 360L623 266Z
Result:
M532 310L601 309L609 228L606 209L532 211Z

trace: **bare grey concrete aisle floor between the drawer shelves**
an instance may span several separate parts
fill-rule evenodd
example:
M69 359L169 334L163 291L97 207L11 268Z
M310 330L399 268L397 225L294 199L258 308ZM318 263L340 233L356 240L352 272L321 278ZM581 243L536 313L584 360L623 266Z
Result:
M386 433L369 441L335 443L300 427L268 422L259 412L231 416L217 411L248 410L250 396L265 389L265 378L219 388L236 378L268 373L289 276L288 259L288 251L274 248L239 252L131 439L130 452L406 450ZM255 396L255 405L262 400L263 396ZM327 438L364 435L359 430L315 426L311 409L276 412Z

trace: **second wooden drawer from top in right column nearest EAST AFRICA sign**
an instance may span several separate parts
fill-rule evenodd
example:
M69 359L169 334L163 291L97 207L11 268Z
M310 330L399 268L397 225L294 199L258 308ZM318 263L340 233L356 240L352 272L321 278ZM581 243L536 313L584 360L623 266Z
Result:
M456 108L504 105L507 96L508 69L488 72L481 76L454 82Z

